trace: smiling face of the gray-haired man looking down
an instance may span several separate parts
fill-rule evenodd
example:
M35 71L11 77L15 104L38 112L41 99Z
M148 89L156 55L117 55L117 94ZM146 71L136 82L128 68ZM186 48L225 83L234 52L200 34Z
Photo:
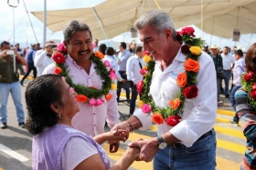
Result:
M148 51L155 61L163 60L168 56L168 51L174 41L171 30L165 29L163 35L158 35L152 26L146 25L139 30L139 34L144 51Z

